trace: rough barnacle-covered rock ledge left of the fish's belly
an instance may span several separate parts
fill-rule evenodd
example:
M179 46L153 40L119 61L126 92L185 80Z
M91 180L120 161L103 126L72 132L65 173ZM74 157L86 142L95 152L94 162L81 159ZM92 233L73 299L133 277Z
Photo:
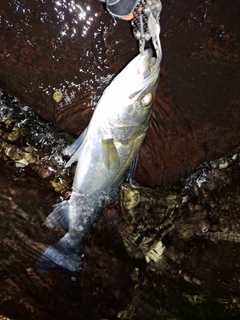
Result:
M65 139L17 99L0 97L0 158L17 168L30 167L39 177L49 179L56 192L65 193L71 188L73 170L63 169Z

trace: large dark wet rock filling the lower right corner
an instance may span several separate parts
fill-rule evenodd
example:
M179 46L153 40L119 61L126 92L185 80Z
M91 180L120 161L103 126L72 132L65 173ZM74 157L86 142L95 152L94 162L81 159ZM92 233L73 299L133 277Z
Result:
M119 232L136 267L119 319L238 319L239 161L238 149L175 188L123 185Z

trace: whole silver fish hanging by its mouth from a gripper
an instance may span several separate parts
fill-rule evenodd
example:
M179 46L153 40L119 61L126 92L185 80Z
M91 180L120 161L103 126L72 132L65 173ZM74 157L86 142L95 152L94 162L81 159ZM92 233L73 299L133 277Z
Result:
M160 63L145 49L112 80L100 97L87 128L64 151L77 162L69 200L53 206L44 224L66 234L37 261L39 269L61 267L75 272L82 265L84 236L105 203L114 200L121 183L132 177L146 136Z

